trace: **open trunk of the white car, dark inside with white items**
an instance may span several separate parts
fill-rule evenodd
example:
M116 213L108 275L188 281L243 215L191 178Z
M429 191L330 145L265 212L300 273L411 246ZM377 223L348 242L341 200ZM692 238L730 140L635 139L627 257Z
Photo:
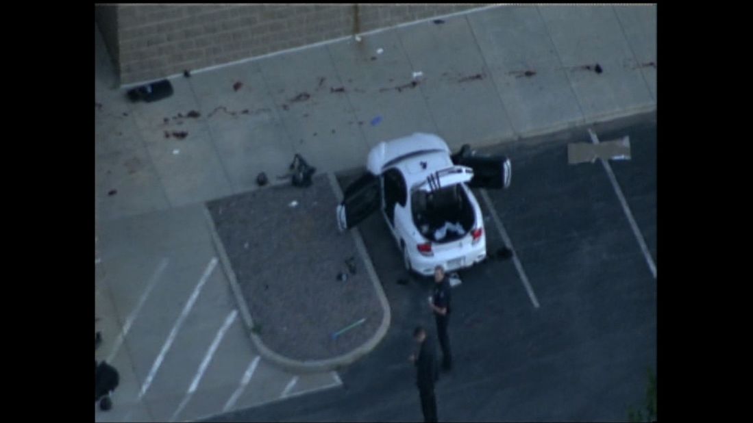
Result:
M411 195L413 222L431 242L444 244L468 235L476 215L461 184L437 190L415 190Z

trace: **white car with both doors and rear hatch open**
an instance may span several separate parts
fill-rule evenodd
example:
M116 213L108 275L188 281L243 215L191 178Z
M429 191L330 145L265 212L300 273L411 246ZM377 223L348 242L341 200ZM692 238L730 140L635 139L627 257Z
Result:
M507 188L507 157L472 155L468 145L450 154L437 135L416 132L380 142L367 172L346 188L337 206L341 231L380 209L409 271L432 275L486 258L483 217L471 187Z

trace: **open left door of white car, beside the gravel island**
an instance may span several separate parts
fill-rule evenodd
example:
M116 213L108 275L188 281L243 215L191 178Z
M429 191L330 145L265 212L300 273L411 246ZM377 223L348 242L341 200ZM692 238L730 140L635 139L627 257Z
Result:
M343 194L343 202L337 206L337 227L350 229L377 212L382 201L381 185L377 176L366 172L350 184Z

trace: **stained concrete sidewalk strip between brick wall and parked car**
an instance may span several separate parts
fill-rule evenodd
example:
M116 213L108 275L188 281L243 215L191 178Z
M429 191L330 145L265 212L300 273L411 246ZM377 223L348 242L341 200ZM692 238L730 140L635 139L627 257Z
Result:
M253 190L294 153L337 172L410 132L490 145L656 107L655 6L500 6L444 21L194 72L154 103L98 76L99 218Z

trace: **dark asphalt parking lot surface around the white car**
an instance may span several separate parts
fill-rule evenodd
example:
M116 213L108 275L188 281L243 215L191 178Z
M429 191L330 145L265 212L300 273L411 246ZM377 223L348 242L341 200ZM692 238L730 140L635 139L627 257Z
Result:
M656 120L593 129L602 142L630 135L631 160L609 163L627 208L601 163L568 164L567 144L590 142L585 129L486 149L508 154L514 169L509 190L487 191L491 208L476 193L487 250L503 245L496 215L530 290L512 259L461 273L450 321L456 365L437 386L441 420L625 421L642 406L657 359L657 280L648 264L657 258ZM431 281L396 283L405 272L384 225L373 215L359 230L392 326L367 358L341 371L343 388L213 420L421 419L407 357L416 324L434 331L425 304Z

